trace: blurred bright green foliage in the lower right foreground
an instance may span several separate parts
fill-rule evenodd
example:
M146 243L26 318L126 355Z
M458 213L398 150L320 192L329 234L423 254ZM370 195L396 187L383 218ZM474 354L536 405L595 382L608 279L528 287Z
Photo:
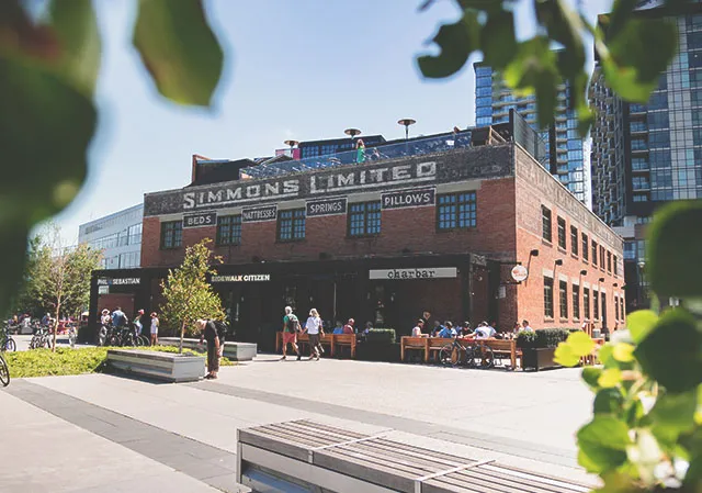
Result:
M673 306L627 316L626 330L586 368L592 421L577 434L578 462L600 493L702 492L702 201L669 204L648 231L646 277L654 300ZM677 300L677 302L676 302ZM593 350L585 333L556 349L564 366Z

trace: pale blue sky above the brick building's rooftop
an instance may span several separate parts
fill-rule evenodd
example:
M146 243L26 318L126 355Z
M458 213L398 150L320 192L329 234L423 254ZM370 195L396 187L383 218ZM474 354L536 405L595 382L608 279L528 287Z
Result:
M192 154L211 158L272 155L283 141L335 138L350 126L386 138L475 121L474 74L422 79L415 58L452 0L418 12L410 0L210 0L207 15L225 48L212 110L178 107L155 90L131 44L136 2L95 0L103 33L97 103L100 126L89 178L56 217L66 242L78 225L141 202L145 192L189 183ZM531 1L518 5L518 35L533 34ZM588 0L593 19L611 0ZM476 60L479 59L475 58ZM473 61L473 60L472 60Z

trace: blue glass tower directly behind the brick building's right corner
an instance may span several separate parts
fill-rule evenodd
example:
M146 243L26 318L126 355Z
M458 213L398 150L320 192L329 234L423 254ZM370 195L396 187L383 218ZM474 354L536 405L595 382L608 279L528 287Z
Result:
M532 127L541 133L546 145L543 165L581 202L589 204L589 153L584 153L584 141L578 134L578 119L570 108L570 88L558 87L554 124L540 130L534 96L516 97L499 72L477 63L475 68L475 124L476 126L503 123L509 110L517 111Z

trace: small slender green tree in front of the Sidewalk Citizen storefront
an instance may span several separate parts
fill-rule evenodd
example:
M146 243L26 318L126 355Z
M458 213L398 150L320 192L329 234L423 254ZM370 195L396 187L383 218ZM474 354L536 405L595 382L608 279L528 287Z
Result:
M212 239L205 238L188 247L183 264L169 270L168 278L161 282L166 299L160 307L161 315L166 323L180 327L180 352L183 351L185 332L194 329L196 320L223 320L225 316L219 295L207 282L207 276L216 273L210 262L210 243Z

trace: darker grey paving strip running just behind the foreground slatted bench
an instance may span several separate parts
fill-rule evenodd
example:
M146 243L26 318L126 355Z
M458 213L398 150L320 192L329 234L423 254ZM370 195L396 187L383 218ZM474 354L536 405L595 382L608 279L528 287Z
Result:
M339 404L320 403L307 399L276 394L273 392L265 392L217 382L197 382L188 383L184 385L205 392L215 392L239 399L267 402L270 404L296 408L299 411L324 414L335 418L342 418L388 427L398 432L405 432L429 438L437 438L444 441L467 445L471 447L492 452L506 453L523 459L535 459L557 466L579 468L575 453L568 450L557 449L555 447L543 447L529 441L505 438L478 432L471 432L463 428L453 428L434 423L427 423L366 410L358 410Z

